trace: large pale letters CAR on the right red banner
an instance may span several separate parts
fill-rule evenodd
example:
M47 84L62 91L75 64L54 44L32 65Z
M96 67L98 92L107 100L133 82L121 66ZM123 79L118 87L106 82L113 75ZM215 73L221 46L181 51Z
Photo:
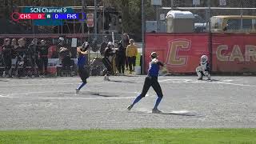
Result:
M216 57L218 61L232 61L234 62L236 59L239 62L250 62L250 60L256 62L256 46L246 45L245 56L243 56L241 48L238 45L234 45L232 51L230 53L222 53L223 50L229 50L227 45L220 45L216 50Z

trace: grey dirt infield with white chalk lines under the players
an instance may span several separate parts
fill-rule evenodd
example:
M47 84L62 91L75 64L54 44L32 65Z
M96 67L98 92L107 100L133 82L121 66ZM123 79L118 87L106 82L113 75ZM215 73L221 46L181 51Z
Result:
M152 89L126 110L144 78L90 77L81 94L75 94L79 78L0 78L0 130L256 127L255 77L159 77L164 113L150 113Z

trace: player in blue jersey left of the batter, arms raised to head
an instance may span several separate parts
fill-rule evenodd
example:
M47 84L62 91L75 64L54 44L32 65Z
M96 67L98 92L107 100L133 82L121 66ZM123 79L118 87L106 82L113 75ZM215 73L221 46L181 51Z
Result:
M82 80L82 84L78 86L76 89L76 94L79 94L79 91L82 89L83 86L86 85L86 79L89 78L90 74L89 72L85 69L85 64L86 64L86 54L88 54L87 49L89 48L89 43L84 42L82 46L77 48L78 52L78 74L79 77Z

